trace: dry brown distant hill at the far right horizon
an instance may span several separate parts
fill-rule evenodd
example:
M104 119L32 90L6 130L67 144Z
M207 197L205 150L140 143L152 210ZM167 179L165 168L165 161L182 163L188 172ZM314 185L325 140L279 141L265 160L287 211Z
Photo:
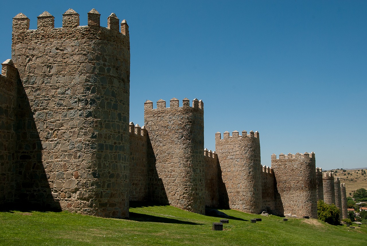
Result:
M334 177L340 177L340 183L345 183L346 195L353 196L353 192L360 188L367 189L367 167L358 169L331 169L325 170L327 172L333 172ZM323 172L325 172L323 171ZM350 195L349 193L352 193Z

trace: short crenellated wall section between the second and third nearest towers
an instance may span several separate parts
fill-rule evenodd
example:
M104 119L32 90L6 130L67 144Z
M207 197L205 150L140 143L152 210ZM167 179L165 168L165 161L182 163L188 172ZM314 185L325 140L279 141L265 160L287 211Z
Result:
M220 166L217 153L204 149L205 206L219 207Z

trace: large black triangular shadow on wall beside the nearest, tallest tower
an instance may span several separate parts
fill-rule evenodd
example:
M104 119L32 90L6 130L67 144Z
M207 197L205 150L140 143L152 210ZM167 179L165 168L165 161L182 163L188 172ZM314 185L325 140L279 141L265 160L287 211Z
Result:
M28 97L19 78L15 135L14 204L11 209L61 211L52 196L48 176L43 166L43 146L37 131ZM10 207L9 207L10 208Z

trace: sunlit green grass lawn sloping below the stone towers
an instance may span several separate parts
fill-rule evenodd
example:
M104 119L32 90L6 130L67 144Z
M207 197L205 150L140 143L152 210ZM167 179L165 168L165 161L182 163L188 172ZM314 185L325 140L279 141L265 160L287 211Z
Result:
M221 210L230 216L223 231L212 231L220 218L171 206L137 203L130 219L67 212L0 213L0 245L367 245L367 227L334 226L314 219L283 218ZM262 221L250 223L250 219Z

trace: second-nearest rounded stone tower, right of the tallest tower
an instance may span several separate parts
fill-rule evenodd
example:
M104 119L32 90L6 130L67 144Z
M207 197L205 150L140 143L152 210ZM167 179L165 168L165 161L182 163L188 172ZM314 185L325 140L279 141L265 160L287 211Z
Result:
M144 104L144 121L149 135L149 188L152 200L205 213L204 104L177 98Z

